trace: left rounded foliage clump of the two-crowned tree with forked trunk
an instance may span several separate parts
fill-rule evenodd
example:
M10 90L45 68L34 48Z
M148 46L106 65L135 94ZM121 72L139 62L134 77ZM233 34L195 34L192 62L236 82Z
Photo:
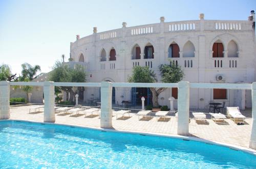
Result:
M135 83L154 83L157 81L156 74L149 67L136 66L133 68L132 76L128 78L129 82Z

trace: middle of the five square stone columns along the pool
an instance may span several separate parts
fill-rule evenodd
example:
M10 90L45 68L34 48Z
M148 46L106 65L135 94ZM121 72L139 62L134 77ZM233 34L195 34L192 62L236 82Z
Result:
M101 92L101 114L100 127L112 128L112 83L102 81L100 85Z

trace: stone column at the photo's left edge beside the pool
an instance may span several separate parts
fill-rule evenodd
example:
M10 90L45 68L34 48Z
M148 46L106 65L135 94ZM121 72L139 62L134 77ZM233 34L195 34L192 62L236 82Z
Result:
M0 120L10 118L10 83L0 81Z

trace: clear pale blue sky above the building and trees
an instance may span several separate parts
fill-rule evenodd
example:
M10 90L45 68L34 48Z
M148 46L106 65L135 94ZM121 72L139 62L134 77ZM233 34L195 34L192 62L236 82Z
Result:
M247 20L256 1L33 1L0 0L0 59L13 73L28 62L51 70L61 54L69 58L76 35L165 21L205 19Z

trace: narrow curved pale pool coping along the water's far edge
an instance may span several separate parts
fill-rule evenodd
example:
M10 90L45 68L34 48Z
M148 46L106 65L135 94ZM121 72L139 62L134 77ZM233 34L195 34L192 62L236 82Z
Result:
M70 125L70 124L62 124L62 123L49 123L49 122L38 122L38 121L32 121L32 120L19 120L19 119L5 119L0 120L1 121L16 121L16 122L32 122L32 123L38 123L38 124L49 124L49 125L59 125L59 126L68 126L68 127L78 127L78 128L85 128L85 129L93 129L93 130L99 130L99 131L106 131L106 132L118 132L118 133L129 133L129 134L140 134L140 135L149 135L149 136L158 136L158 137L168 137L168 138L177 138L177 139L183 139L183 140L193 140L196 142L201 142L209 145L217 145L222 147L227 147L229 149L232 149L234 151L242 151L245 153L252 154L256 156L256 150L242 147L242 146L236 146L228 143L222 143L222 142L216 142L214 140L208 140L204 138L197 138L193 136L183 136L183 135L176 135L176 134L160 134L160 133L152 133L152 132L140 132L140 131L130 131L130 130L116 130L116 129L106 129L106 128L98 128L98 127L89 127L89 126L81 126L81 125Z

